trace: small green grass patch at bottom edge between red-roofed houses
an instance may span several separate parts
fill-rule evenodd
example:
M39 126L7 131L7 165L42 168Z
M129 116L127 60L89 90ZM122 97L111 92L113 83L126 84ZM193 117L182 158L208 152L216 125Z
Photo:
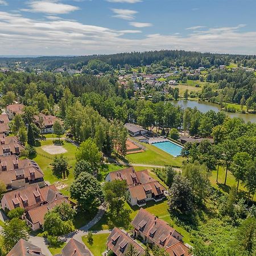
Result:
M89 245L87 236L82 237L82 242L92 251L94 256L101 256L106 251L106 241L109 234L93 234L93 245Z

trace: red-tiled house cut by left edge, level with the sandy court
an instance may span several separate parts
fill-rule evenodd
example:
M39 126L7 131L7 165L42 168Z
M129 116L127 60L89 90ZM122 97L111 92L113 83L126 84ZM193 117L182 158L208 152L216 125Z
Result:
M0 134L0 156L19 155L24 149L25 147L20 144L18 137L6 137L5 134Z

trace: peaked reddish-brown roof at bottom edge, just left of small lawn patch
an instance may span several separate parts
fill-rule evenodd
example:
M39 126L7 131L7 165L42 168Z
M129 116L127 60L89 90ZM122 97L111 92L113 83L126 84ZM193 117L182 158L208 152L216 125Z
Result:
M85 245L79 241L71 238L67 245L61 250L58 256L92 256L90 251L86 249ZM56 256L57 256L56 255Z

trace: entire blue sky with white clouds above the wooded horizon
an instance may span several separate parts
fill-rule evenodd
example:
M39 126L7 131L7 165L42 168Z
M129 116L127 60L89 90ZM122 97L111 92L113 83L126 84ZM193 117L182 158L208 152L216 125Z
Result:
M0 55L256 54L256 0L0 0Z

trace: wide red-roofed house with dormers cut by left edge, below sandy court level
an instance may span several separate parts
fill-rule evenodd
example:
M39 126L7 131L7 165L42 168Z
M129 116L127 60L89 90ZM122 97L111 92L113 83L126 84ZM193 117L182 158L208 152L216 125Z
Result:
M6 189L18 189L38 183L44 186L44 174L38 164L30 159L19 159L16 155L0 156L0 180Z

